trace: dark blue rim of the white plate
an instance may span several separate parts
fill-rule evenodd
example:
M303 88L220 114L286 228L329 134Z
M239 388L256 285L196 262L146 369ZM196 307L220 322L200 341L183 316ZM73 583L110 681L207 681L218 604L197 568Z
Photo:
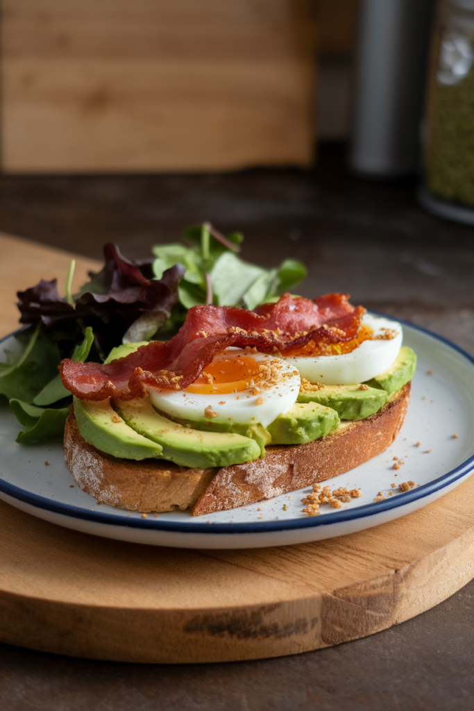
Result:
M384 316L384 314L375 313L377 316ZM391 316L386 316L386 318L392 318ZM474 358L469 353L456 346L456 343L448 341L448 338L443 338L443 336L438 336L437 333L429 331L427 328L422 328L421 326L416 326L415 324L410 324L409 321L402 321L398 319L399 323L404 324L404 326L409 326L414 328L416 331L421 333L426 333L431 338L436 338L436 340L441 341L441 343L446 344L454 351L463 355L463 357L474 366ZM23 331L23 328L19 329ZM0 343L4 343L11 336L15 336L19 331L10 333L9 336L5 336L0 340ZM405 506L408 503L418 501L421 498L430 496L432 493L439 491L441 488L445 488L449 484L461 479L463 476L468 474L472 469L474 469L474 455L470 456L468 459L463 461L462 464L456 466L455 469L448 471L446 474L442 474L438 479L434 479L429 483L423 484L416 489L411 489L411 491L406 491L401 496L397 498L385 499L384 501L378 501L377 503L365 504L365 506L359 506L358 508L352 508L348 510L343 510L338 513L326 513L323 516L311 516L305 518L292 518L284 521L262 521L261 523L191 523L190 521L175 522L175 521L163 521L157 519L143 519L143 518L130 518L124 520L123 515L117 515L115 513L102 513L100 511L89 511L79 506L72 506L67 503L58 503L56 501L51 501L45 496L38 496L38 494L30 493L23 488L15 486L7 481L4 481L0 477L0 491L6 493L12 498L18 499L18 501L24 501L25 503L35 506L36 508L42 508L45 510L53 511L54 513L60 513L63 515L70 516L72 518L79 518L82 520L91 520L95 523L105 523L109 525L119 525L124 528L142 528L145 530L162 530L162 531L173 531L180 533L207 533L207 534L217 534L217 533L264 533L269 531L278 530L295 530L298 528L313 528L315 526L325 526L332 523L342 523L344 521L355 520L358 518L365 518L366 516L373 515L375 513L382 513L384 511L392 510L398 508L399 506Z

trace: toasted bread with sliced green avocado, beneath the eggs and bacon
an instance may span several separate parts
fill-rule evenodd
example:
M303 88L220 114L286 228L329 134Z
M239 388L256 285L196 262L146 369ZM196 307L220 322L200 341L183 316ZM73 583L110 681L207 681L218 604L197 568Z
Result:
M223 432L217 418L174 422L148 398L75 400L65 431L66 465L97 501L141 512L179 508L202 515L279 496L389 447L406 415L415 367L416 355L402 347L370 383L305 383L298 402L265 428L266 435L250 424L239 428L245 434Z

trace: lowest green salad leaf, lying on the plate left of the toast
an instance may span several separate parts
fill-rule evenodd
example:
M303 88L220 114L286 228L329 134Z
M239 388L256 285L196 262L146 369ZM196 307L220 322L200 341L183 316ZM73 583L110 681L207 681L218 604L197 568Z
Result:
M28 402L14 398L10 400L10 407L25 428L16 437L16 442L19 444L38 444L48 439L63 437L70 405L61 407L60 410L53 408L43 410L42 407L28 405Z

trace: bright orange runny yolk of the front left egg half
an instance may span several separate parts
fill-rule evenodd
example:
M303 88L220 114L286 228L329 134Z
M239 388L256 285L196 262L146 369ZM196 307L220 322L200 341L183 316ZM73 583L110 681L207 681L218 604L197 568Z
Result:
M186 392L204 395L224 395L226 392L242 392L252 387L259 379L259 363L249 355L234 358L216 358L204 368L198 380L186 387ZM254 381L252 383L251 381Z

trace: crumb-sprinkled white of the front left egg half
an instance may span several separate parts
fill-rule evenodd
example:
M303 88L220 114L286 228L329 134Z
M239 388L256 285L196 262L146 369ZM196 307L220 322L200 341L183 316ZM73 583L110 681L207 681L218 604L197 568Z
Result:
M242 348L227 348L227 351L217 355L216 358L229 358L231 355L237 357L240 353L245 353L262 363L276 360L274 355L249 353ZM231 422L260 422L266 427L294 405L301 385L300 375L294 365L281 359L278 360L281 365L278 373L281 377L271 387L264 387L264 385L259 387L260 383L254 379L255 385L259 389L257 395L252 395L252 387L240 392L226 392L225 394L220 392L215 395L150 387L150 399L157 410L161 410L165 415L171 417L190 420L208 419L205 410L210 406L212 412L217 413L215 419L221 421L227 419Z

